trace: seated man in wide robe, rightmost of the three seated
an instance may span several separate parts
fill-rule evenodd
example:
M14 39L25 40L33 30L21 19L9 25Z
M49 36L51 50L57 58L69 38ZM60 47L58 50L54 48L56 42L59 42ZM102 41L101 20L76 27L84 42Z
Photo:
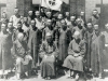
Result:
M64 67L72 70L72 77L79 79L79 75L83 72L83 57L85 54L85 43L80 39L80 32L75 31L73 40L71 40L68 48L68 56L64 62ZM71 72L71 71L70 71ZM70 73L71 76L71 73Z

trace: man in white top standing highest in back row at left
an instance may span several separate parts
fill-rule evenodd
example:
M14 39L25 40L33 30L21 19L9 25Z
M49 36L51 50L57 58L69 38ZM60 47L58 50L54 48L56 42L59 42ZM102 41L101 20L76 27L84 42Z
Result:
M10 22L13 23L13 27L17 28L17 23L21 21L19 10L17 8L14 9L14 15L10 17Z

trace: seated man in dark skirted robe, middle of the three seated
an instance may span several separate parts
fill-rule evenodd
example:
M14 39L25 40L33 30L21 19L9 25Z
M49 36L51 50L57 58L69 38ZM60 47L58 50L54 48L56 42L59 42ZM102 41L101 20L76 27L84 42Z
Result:
M52 35L46 33L46 41L40 48L41 62L41 77L50 80L55 77L55 59L57 55L57 48L53 42Z

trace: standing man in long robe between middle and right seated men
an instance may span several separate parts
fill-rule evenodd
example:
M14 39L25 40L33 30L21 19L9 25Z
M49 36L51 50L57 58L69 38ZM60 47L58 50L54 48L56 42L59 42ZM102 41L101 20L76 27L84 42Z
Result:
M64 59L68 55L68 45L71 40L71 31L68 30L66 22L62 21L62 28L59 30L59 40L58 40L58 69L63 68Z

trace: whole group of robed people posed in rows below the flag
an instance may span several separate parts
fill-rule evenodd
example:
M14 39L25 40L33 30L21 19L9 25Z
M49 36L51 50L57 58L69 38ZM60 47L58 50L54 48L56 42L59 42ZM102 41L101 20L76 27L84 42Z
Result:
M10 18L3 12L0 21L0 78L8 79L14 71L17 79L38 75L46 80L66 75L79 79L87 72L103 78L108 58L108 24L102 31L100 17L93 10L86 21L85 13L69 12L54 16L51 11L29 10L19 15L14 9Z

